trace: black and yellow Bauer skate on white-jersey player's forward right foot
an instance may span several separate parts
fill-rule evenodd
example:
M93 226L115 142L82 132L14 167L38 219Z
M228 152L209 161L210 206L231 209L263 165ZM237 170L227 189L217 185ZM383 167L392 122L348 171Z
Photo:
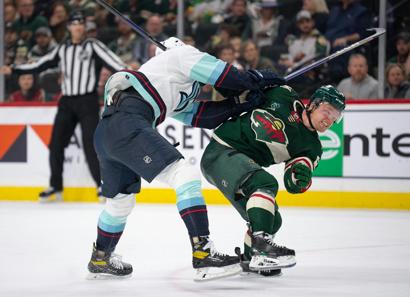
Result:
M199 237L200 242L192 244L192 266L196 269L194 281L204 282L225 277L233 277L242 272L237 256L228 256L216 251L214 242L207 236ZM221 272L208 272L210 268L222 268Z

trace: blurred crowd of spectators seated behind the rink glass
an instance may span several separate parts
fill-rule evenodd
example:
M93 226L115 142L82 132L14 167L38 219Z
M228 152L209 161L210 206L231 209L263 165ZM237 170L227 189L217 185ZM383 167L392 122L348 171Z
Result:
M177 0L106 0L159 41L176 36ZM186 44L240 70L270 68L285 76L371 35L378 27L378 1L372 0L186 0ZM392 7L397 1L387 1ZM97 38L134 70L155 56L155 45L94 0L6 0L5 64L18 65L46 55L70 38L72 11L86 16L85 34ZM410 98L410 1L388 14L385 93ZM346 99L378 97L378 42L351 50L290 80L301 98L332 84ZM103 69L98 94L111 72ZM5 101L57 101L61 72L6 75ZM219 100L205 85L201 100Z

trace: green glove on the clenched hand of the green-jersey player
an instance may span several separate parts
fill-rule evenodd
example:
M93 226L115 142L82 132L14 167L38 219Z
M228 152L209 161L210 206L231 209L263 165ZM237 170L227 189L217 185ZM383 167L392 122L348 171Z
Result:
M312 171L301 163L294 163L285 171L285 188L289 193L298 194L307 191L311 180Z

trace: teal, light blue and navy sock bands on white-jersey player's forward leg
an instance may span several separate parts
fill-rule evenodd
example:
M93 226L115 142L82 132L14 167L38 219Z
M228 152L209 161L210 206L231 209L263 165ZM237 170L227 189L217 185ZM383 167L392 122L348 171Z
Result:
M209 235L208 212L201 191L201 181L193 180L175 189L177 207L191 237Z

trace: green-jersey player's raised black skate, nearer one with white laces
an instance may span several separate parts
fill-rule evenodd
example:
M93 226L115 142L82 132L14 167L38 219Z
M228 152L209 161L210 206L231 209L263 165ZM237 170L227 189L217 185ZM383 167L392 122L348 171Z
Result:
M252 238L252 256L249 268L251 270L272 270L290 268L296 265L295 251L276 245L273 236L266 232L250 232Z

